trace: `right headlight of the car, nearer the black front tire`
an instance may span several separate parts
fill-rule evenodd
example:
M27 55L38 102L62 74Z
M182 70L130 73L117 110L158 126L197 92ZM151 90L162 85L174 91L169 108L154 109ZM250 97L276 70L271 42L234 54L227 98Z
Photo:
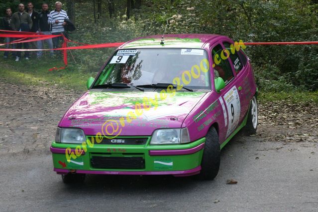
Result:
M150 144L185 144L190 142L188 128L155 130Z

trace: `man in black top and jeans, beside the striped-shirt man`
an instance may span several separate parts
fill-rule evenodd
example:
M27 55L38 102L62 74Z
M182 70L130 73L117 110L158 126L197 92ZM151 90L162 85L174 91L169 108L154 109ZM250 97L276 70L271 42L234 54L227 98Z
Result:
M42 4L42 11L39 13L39 31L42 34L51 35L51 24L48 23L49 18L49 6L47 3ZM50 49L53 49L53 42L52 38L45 39ZM43 49L43 42L44 40L37 41L37 48ZM53 55L53 50L50 50L51 55ZM37 51L37 58L40 58L42 56L42 51Z

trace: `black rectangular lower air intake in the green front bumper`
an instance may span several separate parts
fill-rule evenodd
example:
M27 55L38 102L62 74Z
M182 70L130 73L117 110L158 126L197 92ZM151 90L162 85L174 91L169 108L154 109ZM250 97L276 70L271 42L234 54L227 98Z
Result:
M103 157L93 156L92 167L96 169L144 169L142 157Z

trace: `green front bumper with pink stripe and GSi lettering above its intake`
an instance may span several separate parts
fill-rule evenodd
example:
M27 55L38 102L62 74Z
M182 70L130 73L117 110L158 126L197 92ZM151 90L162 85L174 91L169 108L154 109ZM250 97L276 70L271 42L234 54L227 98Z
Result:
M125 137L121 137L124 139ZM126 137L127 138L127 137ZM131 137L129 137L131 138ZM140 137L139 137L140 138ZM145 137L143 137L145 138ZM203 147L205 138L201 138L197 141L189 144L179 145L149 145L150 137L144 145L105 145L95 144L93 146L87 146L86 151L80 149L75 152L75 149L79 144L61 144L53 142L51 146L51 152L53 157L54 171L58 174L69 172L70 170L76 170L77 173L88 173L88 174L189 174L191 171L200 172L200 165L203 155ZM119 138L118 138L119 139ZM73 157L70 157L67 148L71 148ZM66 153L68 153L68 157ZM92 164L93 158L107 157L116 159L122 158L138 158L142 159L144 167L142 168L96 168L96 165ZM115 157L115 158L114 158ZM67 160L69 159L69 161ZM178 172L178 171L189 171L189 172ZM193 173L194 173L193 172ZM192 174L193 174L192 173Z

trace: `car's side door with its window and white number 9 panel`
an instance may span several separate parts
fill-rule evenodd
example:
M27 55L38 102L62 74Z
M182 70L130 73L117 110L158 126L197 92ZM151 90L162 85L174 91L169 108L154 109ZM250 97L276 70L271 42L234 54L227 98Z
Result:
M231 64L229 55L224 51L221 43L217 43L212 47L213 60L213 79L221 77L225 82L225 87L220 90L218 100L222 106L224 116L224 127L219 129L223 132L219 133L220 141L224 141L237 128L241 116L241 102L238 94L238 82L235 78L233 65Z

